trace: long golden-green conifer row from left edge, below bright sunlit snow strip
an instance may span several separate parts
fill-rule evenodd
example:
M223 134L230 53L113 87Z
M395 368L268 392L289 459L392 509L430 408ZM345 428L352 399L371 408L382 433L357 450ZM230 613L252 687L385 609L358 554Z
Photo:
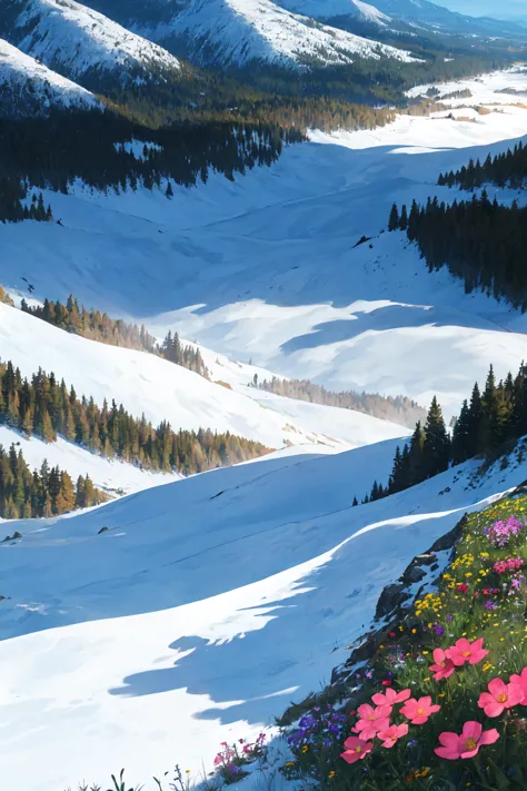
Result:
M60 434L92 453L119 458L142 469L176 471L185 475L245 462L269 452L261 443L230 432L209 428L172 431L162 421L157 428L145 415L136 418L122 404L77 396L54 374L41 368L31 380L22 378L11 362L0 364L0 424L56 442Z

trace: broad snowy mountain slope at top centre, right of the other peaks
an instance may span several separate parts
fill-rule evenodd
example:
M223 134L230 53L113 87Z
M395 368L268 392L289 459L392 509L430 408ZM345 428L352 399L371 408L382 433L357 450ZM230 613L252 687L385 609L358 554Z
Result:
M315 24L270 0L191 0L170 20L143 22L137 29L201 66L335 65L357 57L411 60L404 50Z

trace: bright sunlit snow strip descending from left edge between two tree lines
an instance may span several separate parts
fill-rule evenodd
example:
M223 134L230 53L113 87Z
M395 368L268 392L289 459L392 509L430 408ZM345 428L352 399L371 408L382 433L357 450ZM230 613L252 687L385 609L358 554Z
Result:
M348 409L306 405L311 409L302 411L299 404L288 411L264 399L260 405L249 388L237 393L155 355L86 340L3 304L0 358L11 359L22 376L39 367L52 370L79 395L93 396L98 404L115 398L156 426L168 419L175 431L212 428L271 448L315 443L334 449L408 434L404 426Z

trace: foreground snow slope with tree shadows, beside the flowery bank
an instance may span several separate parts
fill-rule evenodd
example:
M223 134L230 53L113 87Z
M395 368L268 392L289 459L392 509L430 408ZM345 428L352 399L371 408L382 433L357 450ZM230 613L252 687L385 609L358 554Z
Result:
M4 783L209 771L219 742L328 680L415 554L527 473L510 459L473 481L468 464L350 507L391 453L261 461L18 523L0 546Z

